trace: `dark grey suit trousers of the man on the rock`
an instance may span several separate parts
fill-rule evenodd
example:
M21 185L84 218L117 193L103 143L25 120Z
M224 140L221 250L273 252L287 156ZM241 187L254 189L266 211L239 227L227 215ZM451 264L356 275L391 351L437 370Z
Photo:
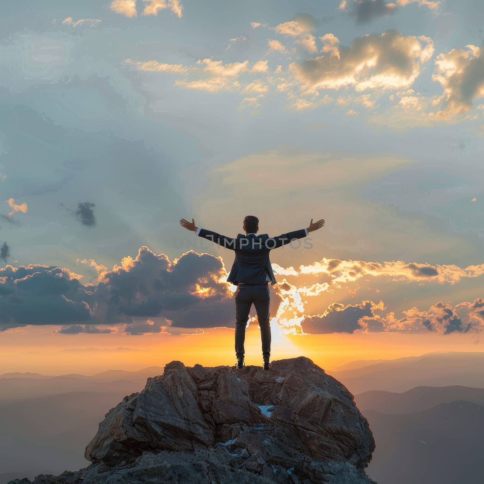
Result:
M238 360L244 357L245 327L249 311L254 304L262 340L262 356L269 360L271 355L271 326L269 325L269 305L271 293L267 284L240 284L235 297L235 354Z

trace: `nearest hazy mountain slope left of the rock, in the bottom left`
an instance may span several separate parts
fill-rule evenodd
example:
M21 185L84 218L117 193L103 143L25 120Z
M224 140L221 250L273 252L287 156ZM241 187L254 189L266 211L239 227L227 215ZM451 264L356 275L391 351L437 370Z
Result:
M71 392L0 404L0 484L19 473L33 478L88 465L86 445L124 395Z

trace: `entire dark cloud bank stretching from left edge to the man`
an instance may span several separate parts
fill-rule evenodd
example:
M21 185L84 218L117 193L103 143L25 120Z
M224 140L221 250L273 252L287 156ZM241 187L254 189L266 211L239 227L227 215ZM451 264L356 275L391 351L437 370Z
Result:
M59 267L7 266L0 269L0 326L74 323L60 333L76 333L80 325L125 323L130 334L161 332L168 324L227 326L232 323L233 301L227 285L218 282L225 275L218 257L188 252L170 262L148 247L102 274L97 287L81 284L76 274ZM159 325L159 331L150 323L133 323L148 318L166 318L169 323ZM88 330L95 331L91 326Z

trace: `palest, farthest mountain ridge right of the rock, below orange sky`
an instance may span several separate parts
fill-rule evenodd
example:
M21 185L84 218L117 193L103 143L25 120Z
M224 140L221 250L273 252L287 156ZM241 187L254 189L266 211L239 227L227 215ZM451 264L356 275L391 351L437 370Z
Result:
M406 392L417 386L484 388L484 352L428 353L361 368L328 371L353 394L369 390Z

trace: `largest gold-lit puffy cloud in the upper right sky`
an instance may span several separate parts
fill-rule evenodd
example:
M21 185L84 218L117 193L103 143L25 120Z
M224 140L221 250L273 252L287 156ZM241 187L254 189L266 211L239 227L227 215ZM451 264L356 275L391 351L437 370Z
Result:
M421 65L434 52L428 37L404 37L397 30L364 35L349 47L339 45L333 34L321 40L325 42L323 52L331 52L330 56L289 66L303 89L309 92L348 86L356 91L406 88L415 81Z

